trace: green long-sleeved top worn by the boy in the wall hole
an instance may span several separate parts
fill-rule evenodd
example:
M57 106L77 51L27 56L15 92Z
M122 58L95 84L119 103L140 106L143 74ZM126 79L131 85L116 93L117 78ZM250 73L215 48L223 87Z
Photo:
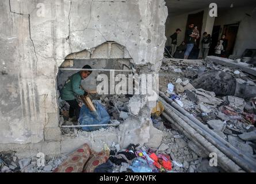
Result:
M84 95L85 91L80 88L81 81L82 77L80 75L80 72L70 76L70 78L68 78L67 82L60 91L62 99L65 101L70 101L75 99L78 95Z

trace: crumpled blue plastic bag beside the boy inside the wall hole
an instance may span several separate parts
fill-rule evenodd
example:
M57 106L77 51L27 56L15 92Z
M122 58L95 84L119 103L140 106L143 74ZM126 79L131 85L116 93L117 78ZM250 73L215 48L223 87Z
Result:
M99 101L95 101L96 112L91 112L85 105L82 106L78 122L80 125L109 124L110 116ZM106 127L82 127L83 131L91 132Z

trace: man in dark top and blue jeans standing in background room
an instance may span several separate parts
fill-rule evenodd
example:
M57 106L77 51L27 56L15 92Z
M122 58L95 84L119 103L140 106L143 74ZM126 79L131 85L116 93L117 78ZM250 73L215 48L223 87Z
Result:
M186 37L186 51L184 54L184 59L188 59L190 52L192 51L194 47L194 40L197 38L196 35L193 34L194 30L194 24L189 24L189 29L186 31L185 37Z

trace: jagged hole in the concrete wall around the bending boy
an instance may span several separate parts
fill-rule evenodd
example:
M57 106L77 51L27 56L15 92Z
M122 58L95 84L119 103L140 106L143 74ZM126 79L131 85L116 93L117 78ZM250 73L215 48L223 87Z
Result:
M80 125L81 122L78 121L78 118L70 119L69 110L70 105L68 101L62 99L62 89L66 81L70 76L79 73L83 66L89 65L93 68L91 75L82 80L81 88L85 91L97 91L97 86L102 81L97 82L97 76L100 74L105 74L108 76L108 91L110 92L110 71L115 70L114 76L119 74L124 74L125 76L131 74L133 64L131 56L127 49L117 43L107 42L96 48L90 49L90 51L84 50L77 53L72 53L66 57L64 62L59 68L58 77L57 77L57 86L58 86L58 105L59 105L59 115L60 115L60 124L65 126ZM127 81L128 82L128 81ZM118 81L115 84L119 83ZM128 91L128 88L127 88ZM128 93L127 93L128 94ZM110 124L119 121L122 123L125 118L128 117L128 104L129 99L132 95L127 94L97 94L90 93L90 99L95 101L100 101L104 106L106 111L110 116ZM80 101L82 102L82 101ZM83 104L84 105L84 104ZM95 105L95 104L94 104ZM74 113L76 114L76 113ZM106 127L104 127L106 128ZM113 127L107 127L113 128ZM64 135L76 135L81 132L81 127L79 128L61 128Z

